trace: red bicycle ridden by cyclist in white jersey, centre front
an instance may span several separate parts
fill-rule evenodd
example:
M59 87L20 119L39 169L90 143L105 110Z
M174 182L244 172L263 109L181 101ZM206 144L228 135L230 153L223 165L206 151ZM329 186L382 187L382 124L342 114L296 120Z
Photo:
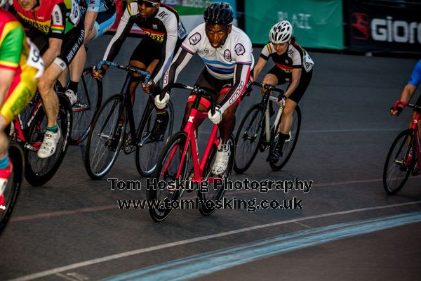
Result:
M222 183L229 179L232 174L235 157L235 141L231 136L228 141L230 156L227 169L221 175L212 173L213 162L218 150L220 139L218 138L218 125L214 125L206 149L201 159L199 158L199 145L197 143L197 129L204 119L208 118L208 112L199 111L202 97L211 100L211 110L215 112L216 94L208 93L208 89L198 86L186 86L180 83L169 84L166 91L173 88L187 89L196 96L189 119L182 131L175 133L171 140L163 148L154 173L154 187L149 189L149 214L154 221L163 221L175 207L183 192L197 191L196 206L203 216L208 216L215 211L217 202L222 199L225 189ZM165 93L165 91L163 91ZM162 97L162 96L161 96ZM180 185L177 186L177 183ZM174 187L175 185L175 187ZM204 187L204 188L203 188Z

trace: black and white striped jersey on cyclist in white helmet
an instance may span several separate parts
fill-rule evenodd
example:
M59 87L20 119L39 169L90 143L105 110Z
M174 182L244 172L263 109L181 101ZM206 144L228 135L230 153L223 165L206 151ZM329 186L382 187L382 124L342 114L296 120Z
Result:
M314 62L307 51L296 43L290 44L288 46L288 51L279 55L275 51L274 44L269 42L263 47L260 58L263 58L264 60L272 58L275 65L287 74L291 74L293 68L300 68L309 72L314 65Z

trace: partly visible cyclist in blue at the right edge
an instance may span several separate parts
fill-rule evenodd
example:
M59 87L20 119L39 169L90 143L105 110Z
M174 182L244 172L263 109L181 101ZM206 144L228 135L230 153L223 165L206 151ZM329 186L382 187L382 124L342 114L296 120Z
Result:
M410 98L413 97L415 91L417 90L418 86L421 84L421 60L418 60L417 65L415 65L415 68L410 75L410 79L408 81L408 84L406 84L405 88L403 88L403 91L401 93L401 98L399 100L408 103L410 101ZM421 105L421 95L417 99L416 105ZM390 115L393 117L399 116L403 110L403 105L398 105L396 107L396 110L393 109L393 107L390 109ZM410 124L413 123L413 119L415 117L415 112L413 113L413 117L411 118ZM418 131L421 133L421 124L418 123Z

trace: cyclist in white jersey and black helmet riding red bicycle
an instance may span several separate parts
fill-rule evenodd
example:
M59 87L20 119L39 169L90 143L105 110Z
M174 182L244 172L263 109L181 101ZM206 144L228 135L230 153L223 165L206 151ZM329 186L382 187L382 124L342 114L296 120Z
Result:
M241 96L249 84L250 70L254 64L251 41L242 30L232 26L233 11L229 4L219 2L206 8L202 23L189 33L164 76L163 86L177 79L178 73L187 65L194 53L205 64L196 84L219 93L215 114L208 111L208 117L219 124L221 142L218 147L212 172L225 172L229 159L227 141L235 126L235 112ZM227 85L229 85L227 87ZM190 108L196 97L189 96L182 126L187 123ZM160 100L155 98L156 107L163 107L170 99L169 93ZM209 103L208 103L209 106ZM199 110L208 110L201 105Z

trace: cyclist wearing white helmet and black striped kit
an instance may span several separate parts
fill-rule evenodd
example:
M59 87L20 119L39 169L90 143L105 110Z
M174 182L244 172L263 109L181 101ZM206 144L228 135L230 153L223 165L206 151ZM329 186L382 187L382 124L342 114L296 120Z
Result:
M269 32L269 40L260 53L253 77L257 79L267 60L272 58L275 66L267 72L263 83L272 85L289 83L284 96L278 100L278 105L283 106L279 141L268 158L276 163L282 155L283 144L289 137L295 107L312 79L314 63L305 49L295 43L293 26L288 20L282 20L272 27ZM262 89L262 94L264 91Z

